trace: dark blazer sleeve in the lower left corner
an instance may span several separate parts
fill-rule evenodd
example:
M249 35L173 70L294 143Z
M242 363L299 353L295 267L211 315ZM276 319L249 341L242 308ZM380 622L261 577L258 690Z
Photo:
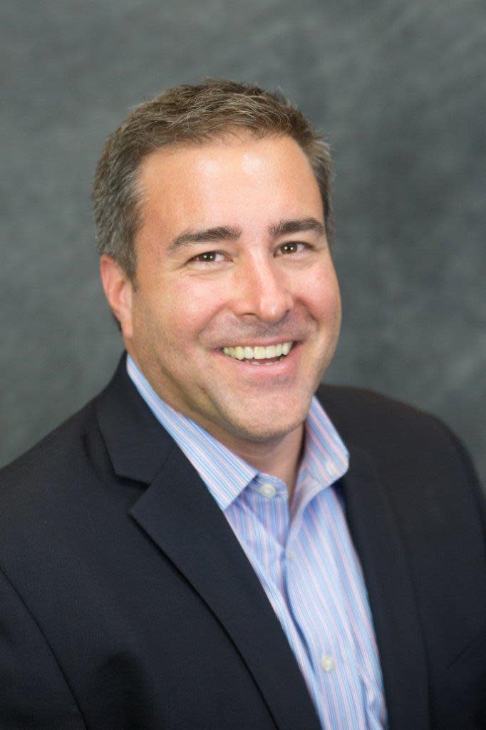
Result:
M87 728L40 627L1 570L0 728Z

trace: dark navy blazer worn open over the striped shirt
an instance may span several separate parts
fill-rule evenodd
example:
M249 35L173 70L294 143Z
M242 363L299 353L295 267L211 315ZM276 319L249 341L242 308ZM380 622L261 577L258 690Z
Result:
M391 730L486 728L485 506L431 416L318 396ZM318 730L285 634L193 466L122 358L107 388L0 472L1 730Z

